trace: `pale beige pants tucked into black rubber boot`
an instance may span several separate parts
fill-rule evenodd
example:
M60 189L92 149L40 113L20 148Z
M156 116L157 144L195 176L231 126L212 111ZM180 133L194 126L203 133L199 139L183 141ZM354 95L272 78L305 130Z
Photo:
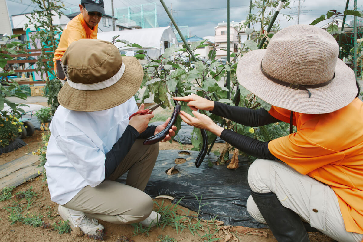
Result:
M248 170L248 184L253 192L275 193L283 206L336 241L360 242L363 239L363 234L345 230L337 195L330 186L282 162L255 160ZM247 200L247 211L258 222L266 223L251 196Z

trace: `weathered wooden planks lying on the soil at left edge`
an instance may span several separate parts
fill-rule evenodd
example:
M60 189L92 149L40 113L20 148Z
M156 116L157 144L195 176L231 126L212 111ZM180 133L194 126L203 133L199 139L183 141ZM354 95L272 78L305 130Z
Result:
M19 186L39 176L42 169L37 167L38 160L37 155L26 155L0 165L0 192L5 186Z

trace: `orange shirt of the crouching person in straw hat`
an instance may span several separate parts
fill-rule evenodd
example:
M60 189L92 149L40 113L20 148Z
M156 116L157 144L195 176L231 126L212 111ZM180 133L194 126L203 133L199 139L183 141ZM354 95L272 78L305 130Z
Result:
M269 113L290 123L290 111ZM337 194L348 232L363 234L363 102L356 98L328 114L294 112L297 132L268 144L270 152L296 171L329 185Z

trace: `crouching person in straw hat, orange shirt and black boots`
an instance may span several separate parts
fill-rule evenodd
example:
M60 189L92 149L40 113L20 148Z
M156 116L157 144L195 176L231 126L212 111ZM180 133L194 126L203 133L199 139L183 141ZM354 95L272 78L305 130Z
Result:
M289 26L237 66L238 82L272 104L269 111L197 95L174 98L193 110L195 117L181 111L184 122L259 158L248 171L246 207L279 242L308 242L310 226L339 242L363 239L363 102L354 72L338 54L325 30ZM290 135L263 142L219 127L197 109L251 127L284 121L297 132L290 127Z

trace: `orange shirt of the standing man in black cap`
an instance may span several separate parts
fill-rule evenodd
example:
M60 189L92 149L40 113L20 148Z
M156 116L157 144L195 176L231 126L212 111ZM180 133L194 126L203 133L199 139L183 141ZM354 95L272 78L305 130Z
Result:
M56 60L63 57L64 52L73 41L80 39L97 39L97 28L98 25L93 27L93 29L90 29L83 19L82 13L69 21L63 30L58 48L54 52L54 67Z

